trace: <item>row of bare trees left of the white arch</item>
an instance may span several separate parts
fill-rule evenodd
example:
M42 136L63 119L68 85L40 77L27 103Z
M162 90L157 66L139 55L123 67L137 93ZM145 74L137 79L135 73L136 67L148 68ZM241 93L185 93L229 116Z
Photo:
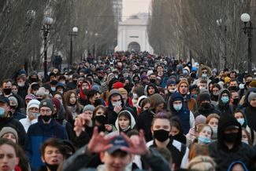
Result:
M112 0L2 0L0 3L0 80L10 77L24 63L39 70L43 63L43 18L54 23L48 38L48 57L55 52L69 56L69 33L79 28L73 41L78 60L85 50L106 50L117 36ZM97 33L97 34L96 34ZM97 38L95 36L97 35Z

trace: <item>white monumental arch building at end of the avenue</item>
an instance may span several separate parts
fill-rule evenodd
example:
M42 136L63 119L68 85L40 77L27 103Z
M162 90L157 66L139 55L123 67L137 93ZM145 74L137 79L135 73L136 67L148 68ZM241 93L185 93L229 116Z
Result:
M118 24L117 51L147 51L154 53L147 35L147 20L132 16Z

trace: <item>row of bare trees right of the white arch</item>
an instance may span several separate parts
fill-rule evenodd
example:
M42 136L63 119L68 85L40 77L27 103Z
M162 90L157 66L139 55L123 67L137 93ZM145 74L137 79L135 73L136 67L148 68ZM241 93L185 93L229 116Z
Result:
M246 69L247 36L243 35L240 16L250 13L252 23L256 24L255 2L152 0L150 44L158 54L184 60L191 55L211 67Z

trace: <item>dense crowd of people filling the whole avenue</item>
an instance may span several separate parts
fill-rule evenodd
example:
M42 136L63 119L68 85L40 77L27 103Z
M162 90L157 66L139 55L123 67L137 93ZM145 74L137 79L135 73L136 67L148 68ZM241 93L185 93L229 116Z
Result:
M0 171L256 169L254 75L117 52L0 93Z

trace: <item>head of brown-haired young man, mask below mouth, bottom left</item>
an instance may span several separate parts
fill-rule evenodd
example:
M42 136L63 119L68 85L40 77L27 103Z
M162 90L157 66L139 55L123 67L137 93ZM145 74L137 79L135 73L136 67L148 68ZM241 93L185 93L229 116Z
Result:
M50 138L46 140L46 142L42 144L40 152L45 166L41 166L39 171L57 171L58 166L65 162L65 144L57 138Z

